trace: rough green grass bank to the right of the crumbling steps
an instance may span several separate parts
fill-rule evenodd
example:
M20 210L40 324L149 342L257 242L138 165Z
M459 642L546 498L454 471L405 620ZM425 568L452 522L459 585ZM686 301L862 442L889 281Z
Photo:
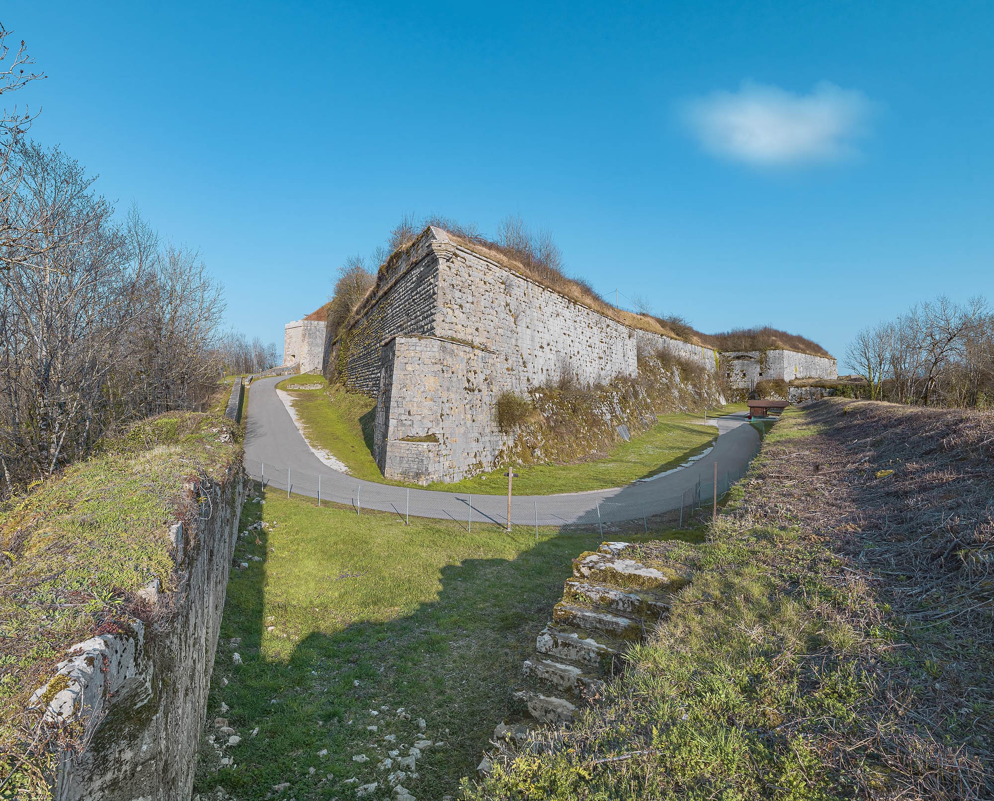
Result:
M644 547L694 572L658 635L561 743L499 765L467 798L990 797L989 621L950 639L920 612L893 615L880 577L833 553L859 532L847 522L865 517L858 509L802 524L801 505L835 499L818 492L826 479L804 485L814 464L784 482L784 453L817 453L826 430L788 410L707 543ZM835 453L842 472L845 449ZM979 672L957 680L971 660Z

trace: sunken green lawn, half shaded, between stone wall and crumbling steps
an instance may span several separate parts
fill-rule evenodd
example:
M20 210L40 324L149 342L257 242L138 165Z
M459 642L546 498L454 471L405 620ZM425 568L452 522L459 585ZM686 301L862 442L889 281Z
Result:
M238 561L249 566L233 570L228 586L205 729L216 732L218 717L237 729L242 741L225 748L237 767L219 769L205 739L196 782L197 792L220 785L239 799L266 798L283 782L280 798L351 798L373 781L372 797L386 799L390 770L377 765L422 738L444 745L424 751L404 786L418 799L455 795L510 711L571 560L599 542L555 529L536 538L484 525L469 534L446 521L405 526L278 491L246 504L241 528L257 520L267 529L257 543L255 532L242 541ZM359 754L369 761L354 761ZM359 784L344 783L352 777Z

